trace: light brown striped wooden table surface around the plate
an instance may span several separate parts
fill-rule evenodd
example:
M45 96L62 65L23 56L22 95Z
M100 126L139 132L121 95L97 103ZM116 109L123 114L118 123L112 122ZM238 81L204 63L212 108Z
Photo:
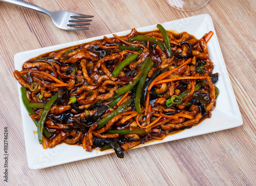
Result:
M69 10L94 15L87 31L64 31L50 17L0 2L0 125L9 134L10 185L255 185L256 184L256 42L254 0L211 0L195 12L180 12L165 1L38 1L27 2L50 11ZM14 54L55 44L150 26L198 14L214 22L234 94L242 113L241 127L30 170L17 83ZM2 154L4 154L1 150ZM3 157L3 156L2 156ZM4 159L1 158L1 183Z

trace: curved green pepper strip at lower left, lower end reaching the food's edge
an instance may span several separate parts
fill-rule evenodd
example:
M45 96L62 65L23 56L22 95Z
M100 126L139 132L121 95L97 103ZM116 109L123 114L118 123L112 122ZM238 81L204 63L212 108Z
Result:
M45 123L47 114L51 109L53 103L57 100L57 97L58 97L58 94L55 94L54 96L52 96L51 99L47 102L44 110L42 110L41 117L39 119L38 126L37 126L39 144L42 144L42 130L44 129L44 123Z

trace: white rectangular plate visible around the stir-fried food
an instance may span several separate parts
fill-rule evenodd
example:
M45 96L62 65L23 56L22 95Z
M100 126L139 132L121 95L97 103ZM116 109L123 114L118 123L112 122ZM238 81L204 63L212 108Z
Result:
M168 135L162 141L155 141L148 144L140 145L155 145L163 142L169 142L176 139L181 139L190 136L196 136L200 134L206 134L210 132L216 132L220 130L225 130L233 127L241 126L243 121L241 117L241 113L238 108L238 104L236 98L234 97L234 92L231 87L231 83L228 77L226 65L224 63L224 59L221 53L220 45L217 39L217 35L214 29L214 25L212 23L211 17L208 14L197 15L193 17L187 17L184 19L174 20L165 22L162 26L166 30L175 30L178 33L180 32L188 32L196 36L197 38L201 38L205 33L209 31L213 31L215 34L212 36L210 41L208 42L208 50L209 50L209 58L214 62L215 68L214 73L219 73L219 81L216 83L216 86L220 89L220 94L217 100L217 106L214 111L212 111L211 119L206 119L202 123L197 126L194 126L190 129L186 129L180 133L175 135ZM137 29L138 32L146 32L156 30L156 25L143 27ZM129 34L131 30L123 31L116 33L118 36L123 36ZM112 34L106 35L106 37L113 37ZM102 39L103 36L98 36L89 39L83 39L79 41L54 45L52 47L46 47L26 52L20 52L14 56L14 64L15 69L18 71L22 70L22 64L36 57L40 54L48 53L51 51L55 51L62 48L67 48L73 45L90 42L93 40ZM20 109L22 113L22 121L23 121L23 129L24 129L24 138L25 145L27 151L28 158L28 166L30 169L42 169L51 166L56 166L60 164L65 164L67 162L77 161L80 159L91 158L95 156L100 156L104 154L113 153L114 150L107 150L104 152L100 152L98 150L93 150L92 152L87 152L80 146L70 146L66 144L58 145L52 149L43 149L41 145L38 144L37 128L26 108L23 105L21 94L20 94L20 85L18 83L18 94L19 94L19 102Z

